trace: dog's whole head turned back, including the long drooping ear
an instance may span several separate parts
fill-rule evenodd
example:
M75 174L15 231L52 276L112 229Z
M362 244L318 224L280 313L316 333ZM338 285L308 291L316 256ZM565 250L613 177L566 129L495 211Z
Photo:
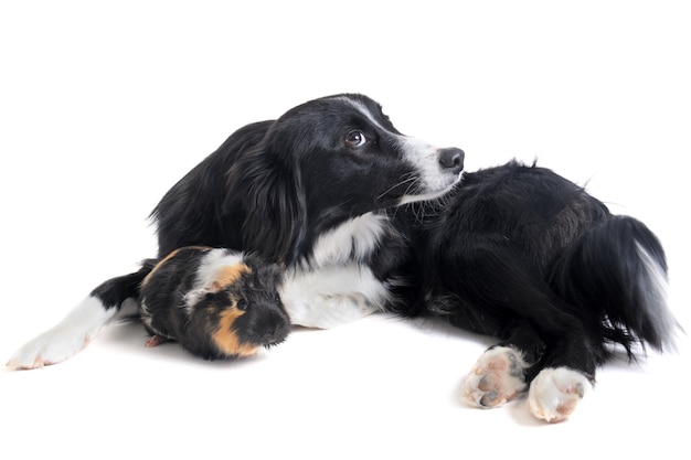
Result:
M269 239L276 252L265 255L290 260L309 232L443 195L463 164L460 149L398 132L374 100L329 96L287 111L241 156L228 173L226 210L242 196L245 242L262 250Z

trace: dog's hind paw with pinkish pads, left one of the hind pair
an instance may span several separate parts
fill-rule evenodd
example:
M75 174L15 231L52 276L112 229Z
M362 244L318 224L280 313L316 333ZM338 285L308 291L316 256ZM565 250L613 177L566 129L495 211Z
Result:
M466 377L461 400L471 406L499 407L525 389L524 371L529 364L510 346L486 351Z

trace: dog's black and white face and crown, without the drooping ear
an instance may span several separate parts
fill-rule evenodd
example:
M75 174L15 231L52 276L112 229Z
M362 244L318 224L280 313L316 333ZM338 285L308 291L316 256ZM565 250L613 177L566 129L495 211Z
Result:
M350 206L351 216L436 197L457 181L464 152L398 132L362 95L302 104L278 119L270 148L301 175L313 205Z

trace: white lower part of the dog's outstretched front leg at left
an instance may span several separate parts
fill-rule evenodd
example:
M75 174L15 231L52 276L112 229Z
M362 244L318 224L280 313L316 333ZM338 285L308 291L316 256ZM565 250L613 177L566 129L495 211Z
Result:
M18 350L7 365L34 368L65 361L82 350L116 313L117 309L106 310L98 298L87 297L57 325Z

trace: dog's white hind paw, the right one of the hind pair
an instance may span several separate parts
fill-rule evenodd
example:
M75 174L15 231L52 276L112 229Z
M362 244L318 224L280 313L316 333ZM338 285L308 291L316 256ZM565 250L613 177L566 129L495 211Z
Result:
M533 415L549 422L563 421L591 388L588 379L567 367L544 368L530 384L528 403Z

